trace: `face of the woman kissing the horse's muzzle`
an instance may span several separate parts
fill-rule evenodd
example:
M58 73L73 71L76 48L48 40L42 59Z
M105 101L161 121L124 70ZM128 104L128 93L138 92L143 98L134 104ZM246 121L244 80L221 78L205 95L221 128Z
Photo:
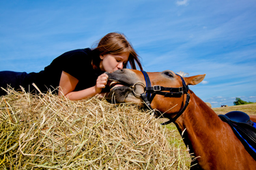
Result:
M122 69L127 63L130 53L124 52L119 55L104 54L100 56L100 69L112 73L117 69Z

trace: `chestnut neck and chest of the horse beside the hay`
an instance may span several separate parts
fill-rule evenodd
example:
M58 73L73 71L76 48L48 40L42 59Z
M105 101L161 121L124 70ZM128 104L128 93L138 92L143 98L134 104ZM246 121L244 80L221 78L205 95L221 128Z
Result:
M255 160L246 152L229 125L192 91L189 93L190 103L175 125L191 156L197 157L191 165L198 163L195 169L255 169ZM231 164L227 164L229 161ZM232 167L234 163L236 165Z

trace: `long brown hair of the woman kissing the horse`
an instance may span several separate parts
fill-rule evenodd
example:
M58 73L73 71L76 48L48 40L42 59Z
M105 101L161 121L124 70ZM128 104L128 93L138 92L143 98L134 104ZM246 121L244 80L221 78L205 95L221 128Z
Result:
M129 52L130 55L128 58L128 62L130 63L130 67L132 69L137 69L137 63L141 71L143 70L137 52L135 52L132 44L129 43L129 41L126 39L126 36L122 33L108 33L107 35L102 37L102 39L100 39L98 46L96 48L93 48L92 51L94 52L92 64L94 65L94 67L96 66L96 68L98 68L100 65L100 55L119 55L123 54L124 52ZM126 65L124 65L124 68L126 68Z

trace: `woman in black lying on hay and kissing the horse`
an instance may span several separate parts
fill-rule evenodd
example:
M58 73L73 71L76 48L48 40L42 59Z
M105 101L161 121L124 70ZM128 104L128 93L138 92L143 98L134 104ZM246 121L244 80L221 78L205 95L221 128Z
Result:
M138 55L122 33L109 33L100 39L94 49L85 48L61 54L40 73L0 71L0 86L15 90L23 86L27 92L35 92L35 83L42 91L55 90L71 100L87 99L102 92L108 80L104 73L126 68L141 67ZM5 95L1 90L0 95Z

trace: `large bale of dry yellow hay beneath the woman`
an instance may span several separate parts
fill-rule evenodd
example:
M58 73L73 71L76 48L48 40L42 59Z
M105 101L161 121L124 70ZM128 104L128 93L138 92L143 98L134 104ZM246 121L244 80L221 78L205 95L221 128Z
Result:
M156 121L137 105L9 90L0 98L0 167L188 169Z

